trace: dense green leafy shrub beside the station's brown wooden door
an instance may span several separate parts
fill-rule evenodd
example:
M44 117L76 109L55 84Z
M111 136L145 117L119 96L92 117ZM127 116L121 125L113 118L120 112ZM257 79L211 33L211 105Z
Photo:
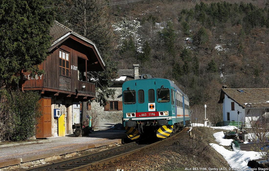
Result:
M3 120L6 133L1 138L22 141L36 135L37 124L42 115L38 92L10 91L1 95L1 100L4 99L5 104L0 106L0 110L2 109L1 114L7 116L9 120Z

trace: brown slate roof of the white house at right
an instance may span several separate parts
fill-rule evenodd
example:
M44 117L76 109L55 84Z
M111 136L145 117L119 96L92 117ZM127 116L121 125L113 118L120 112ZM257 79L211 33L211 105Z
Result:
M269 108L269 88L222 88L218 103L224 94L242 108Z

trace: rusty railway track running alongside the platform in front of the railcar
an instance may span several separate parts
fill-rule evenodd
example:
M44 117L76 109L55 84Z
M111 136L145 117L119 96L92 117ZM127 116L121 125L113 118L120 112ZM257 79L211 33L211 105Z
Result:
M179 132L180 133L180 132ZM157 141L152 144L139 144L137 142L121 145L119 147L107 149L94 154L87 154L71 159L66 159L64 161L49 163L42 166L37 166L34 168L25 169L25 171L86 171L100 168L102 166L108 165L128 157L129 155L140 151L141 149L148 148L152 145L158 144L163 141L167 141L170 138L174 138L177 134L171 137Z

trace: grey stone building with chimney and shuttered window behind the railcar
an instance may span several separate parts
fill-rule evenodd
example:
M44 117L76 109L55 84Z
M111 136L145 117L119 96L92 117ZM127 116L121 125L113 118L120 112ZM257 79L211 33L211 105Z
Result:
M139 79L139 64L133 64L133 69L120 69L119 78L113 80L109 88L115 89L114 99L109 98L107 105L102 107L97 102L91 102L91 112L97 112L100 122L122 123L122 84L125 81Z

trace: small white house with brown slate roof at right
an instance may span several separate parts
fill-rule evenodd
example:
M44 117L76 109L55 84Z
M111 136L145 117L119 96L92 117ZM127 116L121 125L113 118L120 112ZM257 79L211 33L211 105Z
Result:
M222 86L220 100L224 125L241 122L250 125L269 112L269 88L227 88ZM236 124L234 124L236 125Z

